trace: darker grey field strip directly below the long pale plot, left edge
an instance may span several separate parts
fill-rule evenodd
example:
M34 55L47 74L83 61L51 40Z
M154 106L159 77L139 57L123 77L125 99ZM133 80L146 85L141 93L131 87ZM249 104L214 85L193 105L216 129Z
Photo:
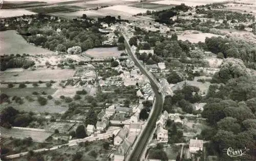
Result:
M33 88L0 88L1 93L5 93L10 97L18 96L18 97L26 97L33 95L34 91L46 92L48 95L52 95L56 92L57 89L48 88L48 87L33 87ZM35 96L35 95L34 95Z

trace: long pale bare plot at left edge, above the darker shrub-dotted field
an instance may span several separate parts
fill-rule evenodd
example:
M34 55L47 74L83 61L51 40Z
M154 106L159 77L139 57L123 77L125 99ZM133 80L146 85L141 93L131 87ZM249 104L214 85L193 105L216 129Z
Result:
M34 71L0 73L2 82L38 82L38 81L62 81L72 78L75 73L73 69L37 69Z

